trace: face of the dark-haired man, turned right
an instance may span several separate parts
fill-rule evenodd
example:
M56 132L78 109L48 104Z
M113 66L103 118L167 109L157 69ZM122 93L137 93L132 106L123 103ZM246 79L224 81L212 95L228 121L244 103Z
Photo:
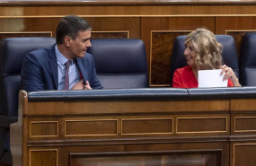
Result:
M88 47L92 47L91 44L91 31L78 31L78 36L75 40L71 39L69 50L72 57L84 57L84 54Z

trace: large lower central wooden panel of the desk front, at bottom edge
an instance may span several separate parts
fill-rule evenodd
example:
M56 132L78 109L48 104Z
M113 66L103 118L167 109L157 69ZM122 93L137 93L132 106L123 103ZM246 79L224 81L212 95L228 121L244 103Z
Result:
M201 145L207 147L201 149ZM168 150L166 150L168 149ZM179 150L177 150L179 149ZM220 150L222 149L222 151ZM69 149L71 150L71 149ZM104 152L102 152L103 150ZM124 150L126 152L124 152ZM110 144L97 148L92 145L91 149L74 147L71 151L70 160L66 160L70 165L143 165L154 166L179 165L228 165L227 160L223 160L227 153L223 144ZM91 152L90 152L91 151ZM93 151L93 153L92 153ZM97 162L98 160L98 162ZM150 162L147 162L150 161Z

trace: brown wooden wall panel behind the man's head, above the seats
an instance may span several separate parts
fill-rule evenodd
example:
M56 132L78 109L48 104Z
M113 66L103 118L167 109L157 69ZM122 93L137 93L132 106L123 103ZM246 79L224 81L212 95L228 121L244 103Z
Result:
M140 24L139 18L84 18L90 22L95 38L139 38ZM39 17L39 18L0 18L0 32L4 32L4 37L13 37L13 33L22 36L31 33L37 33L39 36L45 36L44 33L52 33L56 37L57 23L59 17ZM12 32L12 33L10 33ZM26 32L26 33L25 33ZM8 34L10 34L8 36ZM17 35L16 35L17 36ZM35 36L35 35L34 35Z

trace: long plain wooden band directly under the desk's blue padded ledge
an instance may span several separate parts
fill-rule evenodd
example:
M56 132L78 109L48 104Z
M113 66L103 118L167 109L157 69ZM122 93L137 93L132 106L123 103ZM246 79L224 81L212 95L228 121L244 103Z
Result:
M198 107L200 106L200 107ZM200 112L216 112L229 109L229 100L208 100L207 102L201 100L178 100L178 101L83 101L83 102L31 102L28 106L28 114L30 115L65 115L72 111L74 114L83 114L86 110L87 114L108 114L108 113L129 113L139 111L140 113L150 114L155 111L160 112L186 112L194 111ZM57 111L56 111L57 110ZM26 113L24 113L26 115Z

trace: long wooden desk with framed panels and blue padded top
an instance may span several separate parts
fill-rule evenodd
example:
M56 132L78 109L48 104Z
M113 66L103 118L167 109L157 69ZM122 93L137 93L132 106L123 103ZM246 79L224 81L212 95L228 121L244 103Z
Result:
M256 165L256 98L149 91L20 92L13 166Z

